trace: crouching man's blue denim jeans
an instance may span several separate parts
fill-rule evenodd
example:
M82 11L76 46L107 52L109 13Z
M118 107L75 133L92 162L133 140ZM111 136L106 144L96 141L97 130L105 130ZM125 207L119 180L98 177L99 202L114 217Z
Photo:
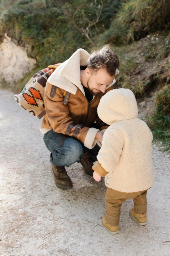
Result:
M63 137L62 133L55 132L53 130L44 134L44 143L52 153L50 162L56 166L69 166L75 162L78 162L82 156L83 151L87 152L93 159L97 161L96 156L100 150L98 145L95 145L92 149L84 146L80 141L68 137L65 139L62 146L59 146L59 142Z

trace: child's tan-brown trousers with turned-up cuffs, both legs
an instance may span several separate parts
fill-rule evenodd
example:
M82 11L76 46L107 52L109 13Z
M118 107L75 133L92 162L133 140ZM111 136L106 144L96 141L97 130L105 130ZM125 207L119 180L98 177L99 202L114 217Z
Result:
M135 193L123 193L107 188L105 195L106 221L111 226L119 225L120 207L127 199L133 199L135 213L147 213L147 190Z

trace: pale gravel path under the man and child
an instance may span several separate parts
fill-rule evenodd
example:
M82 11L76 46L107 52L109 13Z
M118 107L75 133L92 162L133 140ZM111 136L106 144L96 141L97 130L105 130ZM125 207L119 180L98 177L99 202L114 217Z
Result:
M169 256L170 156L153 145L155 185L148 191L148 225L122 204L120 232L101 225L104 179L97 183L80 163L67 168L73 188L55 186L41 120L24 111L13 94L0 90L0 255L2 256Z

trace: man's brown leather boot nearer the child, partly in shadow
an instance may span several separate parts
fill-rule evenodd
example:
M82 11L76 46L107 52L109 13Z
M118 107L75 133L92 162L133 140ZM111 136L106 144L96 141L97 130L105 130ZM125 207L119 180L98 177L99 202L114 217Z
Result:
M78 163L81 163L81 165L83 166L84 172L90 176L93 176L94 172L92 170L93 162L94 160L92 159L92 157L89 156L86 152L83 152L83 157L80 161L78 161Z

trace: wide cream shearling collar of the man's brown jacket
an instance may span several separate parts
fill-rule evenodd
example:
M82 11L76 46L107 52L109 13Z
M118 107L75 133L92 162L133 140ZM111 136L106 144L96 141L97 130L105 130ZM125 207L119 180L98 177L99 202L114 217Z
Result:
M47 80L50 84L55 85L71 94L76 94L77 87L84 94L85 92L80 81L80 66L86 66L90 54L83 49L78 49L66 61L64 61ZM114 84L116 80L114 79ZM110 84L107 88L109 88Z

